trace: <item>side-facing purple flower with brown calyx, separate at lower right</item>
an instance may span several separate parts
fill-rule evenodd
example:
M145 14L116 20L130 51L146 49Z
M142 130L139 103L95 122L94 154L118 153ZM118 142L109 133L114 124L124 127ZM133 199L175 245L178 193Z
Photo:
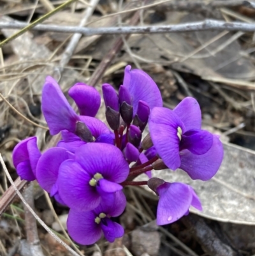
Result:
M202 210L198 196L187 184L168 183L163 179L152 178L148 181L148 186L159 195L157 225L176 222L189 213L190 206Z

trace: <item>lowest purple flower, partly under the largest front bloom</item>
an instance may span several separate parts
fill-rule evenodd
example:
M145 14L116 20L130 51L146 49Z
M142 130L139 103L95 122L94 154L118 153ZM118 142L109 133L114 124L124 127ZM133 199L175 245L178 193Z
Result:
M102 235L112 243L115 238L124 235L121 225L110 217L121 215L126 206L126 197L119 191L114 194L110 204L101 204L93 211L76 211L70 209L67 221L69 235L81 245L92 245Z

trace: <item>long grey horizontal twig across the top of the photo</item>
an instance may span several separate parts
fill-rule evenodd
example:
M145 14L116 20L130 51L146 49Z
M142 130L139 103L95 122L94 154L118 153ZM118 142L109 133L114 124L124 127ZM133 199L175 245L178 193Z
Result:
M20 29L24 28L25 26L26 24L24 22L0 22L0 29ZM93 36L95 34L159 34L208 30L254 32L255 24L249 24L247 22L225 22L222 20L207 19L198 22L188 22L183 24L162 26L127 26L94 28L40 24L36 27L29 27L29 29L57 33L79 33L84 34L84 36ZM3 46L3 43L4 41L0 43L0 47Z

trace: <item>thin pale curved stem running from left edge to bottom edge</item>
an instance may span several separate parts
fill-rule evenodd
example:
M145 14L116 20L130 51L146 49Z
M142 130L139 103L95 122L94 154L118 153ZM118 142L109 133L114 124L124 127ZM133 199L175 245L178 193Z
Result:
M75 252L70 246L66 245L66 243L64 243L58 236L56 236L54 234L54 232L52 232L52 230L40 219L40 217L38 215L36 215L36 213L34 212L34 210L31 208L31 206L29 206L29 204L27 204L27 202L25 201L24 197L22 196L22 194L19 192L17 186L15 185L15 183L13 182L13 179L11 179L10 173L8 172L6 165L4 163L3 157L0 153L0 162L3 166L4 172L6 174L6 176L8 177L11 185L13 186L15 192L17 193L18 197L20 197L20 199L22 200L22 202L24 203L24 205L27 207L27 209L29 209L29 211L33 214L34 218L36 218L36 220L38 220L38 222L43 226L43 228L45 230L47 230L47 232L54 237L54 239L59 242L62 246L64 246L64 248L66 248L66 250L68 250L68 252L72 253L75 256L80 256L78 255L77 252Z

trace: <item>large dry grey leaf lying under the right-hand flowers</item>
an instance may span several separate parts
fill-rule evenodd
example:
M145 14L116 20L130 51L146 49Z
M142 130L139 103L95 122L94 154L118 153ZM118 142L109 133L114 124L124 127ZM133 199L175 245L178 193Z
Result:
M193 186L203 211L192 208L192 213L221 222L254 225L255 151L229 143L223 145L223 162L210 181L193 181L183 170L154 170L152 176Z

